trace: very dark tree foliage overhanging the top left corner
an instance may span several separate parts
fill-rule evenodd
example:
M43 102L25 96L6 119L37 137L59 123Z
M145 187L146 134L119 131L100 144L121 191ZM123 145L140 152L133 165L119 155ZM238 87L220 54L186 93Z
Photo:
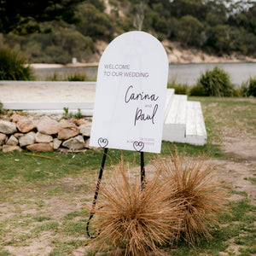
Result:
M83 1L83 0L81 0ZM29 24L31 21L44 22L49 20L64 20L67 23L77 23L74 6L80 0L1 0L0 1L0 32L35 32L40 31Z

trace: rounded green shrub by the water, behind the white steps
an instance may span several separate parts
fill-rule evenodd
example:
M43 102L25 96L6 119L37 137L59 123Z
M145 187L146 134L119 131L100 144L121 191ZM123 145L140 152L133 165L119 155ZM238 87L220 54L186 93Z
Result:
M222 68L214 67L212 71L207 70L201 75L195 89L192 88L190 94L193 96L233 96L234 91L235 85L231 83L230 74Z

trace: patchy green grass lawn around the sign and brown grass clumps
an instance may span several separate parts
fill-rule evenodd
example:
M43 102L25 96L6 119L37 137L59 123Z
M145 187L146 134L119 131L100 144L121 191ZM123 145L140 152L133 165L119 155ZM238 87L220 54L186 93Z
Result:
M190 97L189 100L201 101L207 127L207 145L201 147L163 142L163 157L176 146L179 152L189 155L205 152L212 159L227 159L230 156L221 149L224 130L256 135L255 100L213 97ZM90 186L96 182L103 151L38 154L52 159L25 153L0 152L0 255L19 255L15 249L25 250L34 241L44 241L45 236L50 247L48 255L74 255L73 252L88 241L85 227L90 208L78 207L78 204L84 206L92 200ZM103 180L108 179L111 166L118 163L121 156L129 166L140 165L140 154L137 152L109 149ZM144 156L148 164L155 154L145 153ZM137 172L139 175L139 168ZM251 182L255 183L252 178ZM222 229L212 230L211 241L202 241L200 245L192 247L181 240L173 246L162 247L162 250L170 255L221 255L220 252L225 252L232 241L238 247L237 253L229 251L222 255L255 255L256 207L248 201L247 193L236 190L231 193L242 194L243 198L230 202L233 214L220 217ZM50 212L55 202L69 208L63 213L61 208L60 212ZM9 251L9 247L15 248L13 252ZM44 243L41 247L44 252ZM90 248L84 255L95 255L97 250ZM112 254L106 249L105 254L101 255Z

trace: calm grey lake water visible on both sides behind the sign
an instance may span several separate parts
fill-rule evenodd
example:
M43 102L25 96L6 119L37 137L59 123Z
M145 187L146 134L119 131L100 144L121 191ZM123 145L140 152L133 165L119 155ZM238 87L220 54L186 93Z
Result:
M232 82L241 85L242 82L249 78L256 78L256 63L201 63L201 64L171 64L169 66L168 81L173 79L176 83L187 83L189 86L196 83L201 73L207 69L212 70L214 67L221 67L230 73ZM58 78L64 79L68 74L85 73L88 79L96 80L97 67L55 67L55 68L37 68L35 74L39 80L45 80L54 74Z

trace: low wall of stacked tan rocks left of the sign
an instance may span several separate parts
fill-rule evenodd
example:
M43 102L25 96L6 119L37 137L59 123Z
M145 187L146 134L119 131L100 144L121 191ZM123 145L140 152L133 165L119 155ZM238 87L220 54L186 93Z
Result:
M13 114L0 119L0 149L3 152L26 149L32 152L83 152L89 148L91 123L84 119L61 119L49 116Z

